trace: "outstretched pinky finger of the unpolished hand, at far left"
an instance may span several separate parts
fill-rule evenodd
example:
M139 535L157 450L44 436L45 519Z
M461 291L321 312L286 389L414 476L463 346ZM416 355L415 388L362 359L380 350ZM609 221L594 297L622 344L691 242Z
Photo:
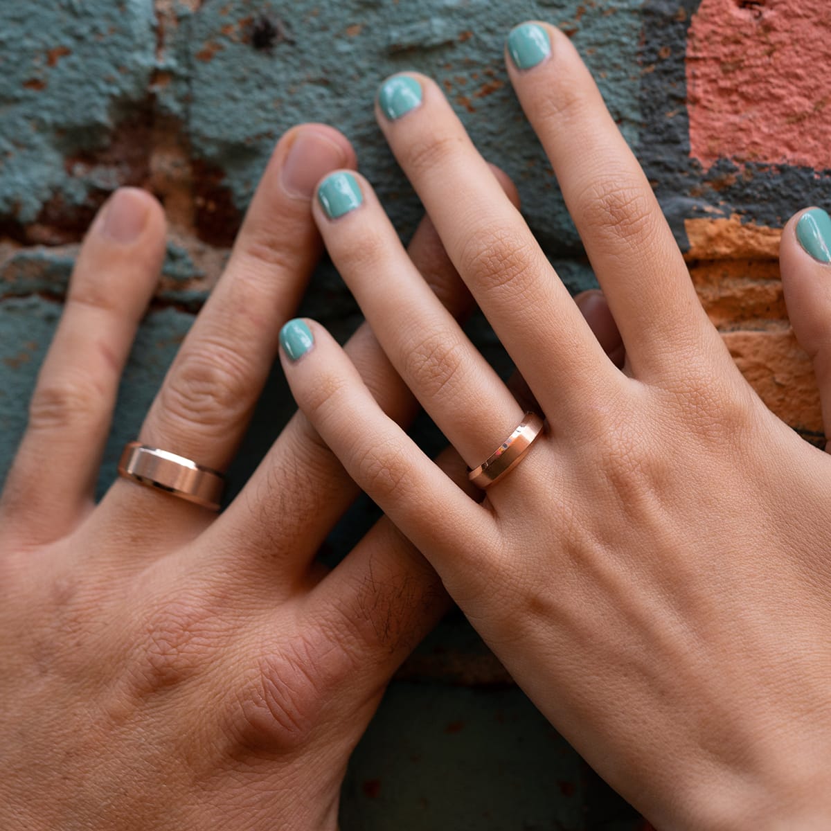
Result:
M57 539L91 509L121 371L164 253L164 214L139 189L117 191L86 235L0 502L2 526L24 541Z

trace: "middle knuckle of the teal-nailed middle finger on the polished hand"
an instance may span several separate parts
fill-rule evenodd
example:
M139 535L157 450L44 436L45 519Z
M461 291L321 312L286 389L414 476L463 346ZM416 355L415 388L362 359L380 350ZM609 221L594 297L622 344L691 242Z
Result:
M460 272L478 288L514 297L533 291L538 266L531 243L498 224L471 235L460 254Z

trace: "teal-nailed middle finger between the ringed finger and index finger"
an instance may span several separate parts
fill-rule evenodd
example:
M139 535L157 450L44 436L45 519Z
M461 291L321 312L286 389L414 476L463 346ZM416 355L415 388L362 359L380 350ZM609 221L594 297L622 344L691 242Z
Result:
M545 414L583 420L586 396L609 391L622 376L439 87L425 76L394 76L381 86L377 117L450 259Z

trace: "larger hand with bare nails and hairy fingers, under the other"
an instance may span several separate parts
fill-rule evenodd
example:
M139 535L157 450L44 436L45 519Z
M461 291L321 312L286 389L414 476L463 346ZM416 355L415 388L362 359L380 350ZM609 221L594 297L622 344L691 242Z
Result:
M141 441L229 464L317 259L314 184L353 163L322 125L283 137ZM0 503L0 827L334 829L352 748L447 597L387 520L332 573L315 563L356 488L302 416L219 518L125 479L93 504L164 239L141 191L96 219ZM463 312L429 222L410 253ZM366 327L347 351L410 416Z

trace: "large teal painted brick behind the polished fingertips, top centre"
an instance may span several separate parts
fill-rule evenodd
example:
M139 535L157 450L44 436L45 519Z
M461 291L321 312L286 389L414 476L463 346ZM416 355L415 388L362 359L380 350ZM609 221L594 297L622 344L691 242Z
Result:
M635 144L641 5L302 2L273 7L292 42L256 50L243 33L263 7L243 0L209 2L179 29L189 38L189 140L194 154L224 171L234 203L243 207L278 135L299 121L327 121L353 140L361 171L398 228L409 234L420 206L391 160L372 103L386 76L422 71L448 93L486 158L519 184L524 213L543 245L573 253L577 235L508 83L504 38L514 24L532 17L573 32L613 116Z

